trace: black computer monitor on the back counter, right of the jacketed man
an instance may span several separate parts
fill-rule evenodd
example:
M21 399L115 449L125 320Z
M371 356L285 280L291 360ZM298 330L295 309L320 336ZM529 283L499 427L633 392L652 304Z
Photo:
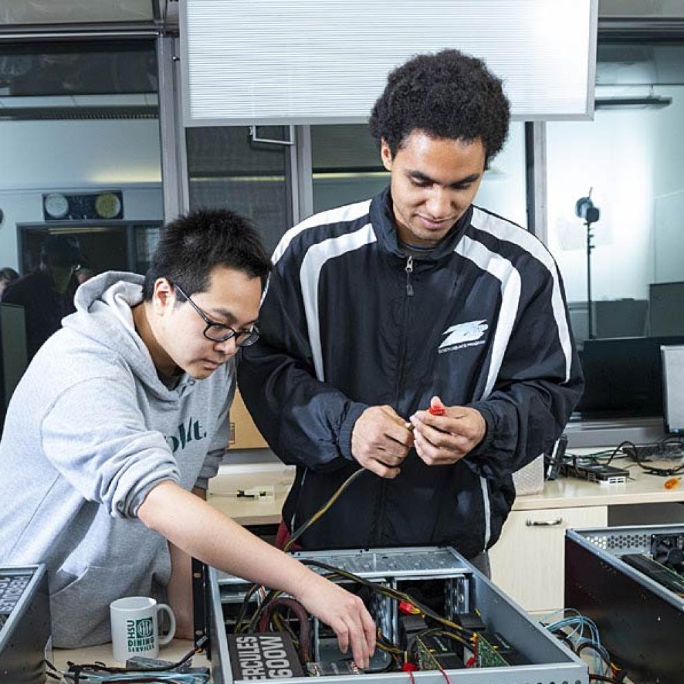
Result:
M684 345L684 335L585 341L582 417L663 416L662 345Z

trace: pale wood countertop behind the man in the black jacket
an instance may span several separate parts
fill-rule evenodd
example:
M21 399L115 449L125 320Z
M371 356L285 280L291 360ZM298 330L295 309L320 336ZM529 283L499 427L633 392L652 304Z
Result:
M559 478L545 483L543 492L519 496L513 510L540 510L638 503L684 501L684 479L674 489L665 489L665 477L648 475L624 459L615 465L629 466L632 479L621 485L601 485L575 478ZM656 463L673 467L671 461ZM219 476L210 481L209 501L241 525L274 525L280 521L281 509L294 478L294 467L279 464L221 466ZM238 490L259 490L259 499L237 496Z

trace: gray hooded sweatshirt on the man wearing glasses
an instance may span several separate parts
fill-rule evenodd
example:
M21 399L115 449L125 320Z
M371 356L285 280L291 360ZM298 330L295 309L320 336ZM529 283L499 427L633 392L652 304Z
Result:
M163 596L168 544L137 508L163 480L206 487L228 444L234 361L168 389L134 330L142 282L109 272L81 285L0 442L0 565L48 565L56 646L109 641L115 598Z

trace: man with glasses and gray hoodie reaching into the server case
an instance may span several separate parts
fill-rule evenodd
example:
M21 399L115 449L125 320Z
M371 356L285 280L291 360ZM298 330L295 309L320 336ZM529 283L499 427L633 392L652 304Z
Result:
M165 590L191 633L194 556L288 592L368 664L359 598L203 501L269 269L237 214L181 217L144 279L108 272L79 288L17 386L0 442L0 559L48 565L55 646L108 641L111 601Z

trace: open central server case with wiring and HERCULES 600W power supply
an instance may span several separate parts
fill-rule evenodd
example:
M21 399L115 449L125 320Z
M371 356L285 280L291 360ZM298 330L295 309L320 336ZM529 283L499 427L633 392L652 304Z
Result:
M378 630L366 670L290 597L196 573L215 684L316 676L331 684L587 684L587 666L450 547L293 554L361 596ZM198 631L199 631L198 630Z

